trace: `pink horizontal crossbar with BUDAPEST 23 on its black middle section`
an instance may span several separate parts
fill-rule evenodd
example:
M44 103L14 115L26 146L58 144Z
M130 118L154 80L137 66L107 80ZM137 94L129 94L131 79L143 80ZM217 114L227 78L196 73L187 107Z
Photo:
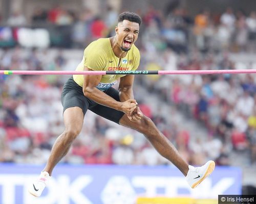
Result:
M256 69L219 69L219 70L131 70L131 71L52 71L52 70L0 70L0 75L23 74L23 75L107 75L107 74L235 74L235 73L256 73Z

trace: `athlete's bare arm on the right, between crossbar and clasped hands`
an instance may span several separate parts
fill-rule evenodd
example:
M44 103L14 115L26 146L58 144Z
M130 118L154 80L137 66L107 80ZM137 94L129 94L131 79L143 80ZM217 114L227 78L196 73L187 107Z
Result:
M134 82L134 75L125 75L124 77L120 78L118 90L119 90L119 98L121 102L128 99L134 99L133 82Z

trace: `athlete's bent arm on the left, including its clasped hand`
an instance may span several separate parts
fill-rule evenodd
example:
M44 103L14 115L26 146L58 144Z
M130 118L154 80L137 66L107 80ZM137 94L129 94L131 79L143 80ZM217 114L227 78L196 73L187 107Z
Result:
M86 71L92 71L87 67L84 67ZM104 92L98 90L96 86L99 84L102 75L84 75L83 81L83 94L84 96L94 100L96 103L103 106L107 106L118 111L122 111L126 114L131 114L136 109L136 100L129 99L123 102L119 102Z

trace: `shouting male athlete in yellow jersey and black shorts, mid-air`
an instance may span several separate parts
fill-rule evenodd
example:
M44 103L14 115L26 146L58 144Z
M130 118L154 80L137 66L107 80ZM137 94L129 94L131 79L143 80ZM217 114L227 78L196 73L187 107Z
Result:
M100 38L84 50L76 70L136 70L140 53L134 45L141 18L130 12L118 17L116 35ZM112 88L120 78L118 90ZM55 141L51 155L38 180L29 186L29 192L40 196L55 165L67 154L79 135L87 110L142 133L156 150L172 162L183 174L191 188L200 184L215 168L214 161L201 167L188 165L172 143L157 129L150 118L142 114L133 95L134 75L73 75L63 87L61 103L65 131Z

